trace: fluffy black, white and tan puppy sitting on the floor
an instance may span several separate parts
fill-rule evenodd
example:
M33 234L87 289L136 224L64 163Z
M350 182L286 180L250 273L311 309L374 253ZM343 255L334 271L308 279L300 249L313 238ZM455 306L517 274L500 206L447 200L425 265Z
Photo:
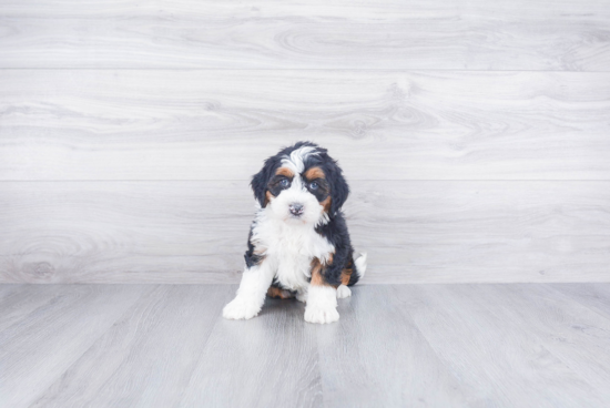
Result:
M228 319L261 312L265 295L305 302L305 320L339 319L337 298L352 295L366 271L354 258L340 207L349 187L326 149L298 142L267 159L252 177L258 210L250 231L245 268Z

